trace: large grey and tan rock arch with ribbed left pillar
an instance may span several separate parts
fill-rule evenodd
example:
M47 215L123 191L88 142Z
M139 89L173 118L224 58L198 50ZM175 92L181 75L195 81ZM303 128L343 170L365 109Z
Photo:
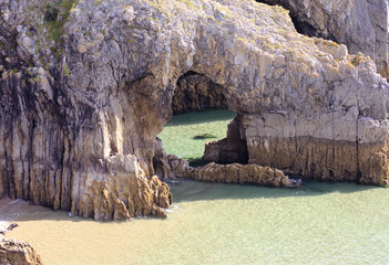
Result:
M298 34L283 8L4 0L0 10L0 195L95 219L163 215L172 195L153 177L168 174L156 135L188 72L224 87L249 163L388 183L388 83L362 54Z

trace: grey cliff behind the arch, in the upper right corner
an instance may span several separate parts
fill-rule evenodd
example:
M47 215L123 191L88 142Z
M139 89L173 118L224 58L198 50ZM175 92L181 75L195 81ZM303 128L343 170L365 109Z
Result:
M389 78L388 0L259 0L290 10L299 32L347 45L351 53L370 56Z

